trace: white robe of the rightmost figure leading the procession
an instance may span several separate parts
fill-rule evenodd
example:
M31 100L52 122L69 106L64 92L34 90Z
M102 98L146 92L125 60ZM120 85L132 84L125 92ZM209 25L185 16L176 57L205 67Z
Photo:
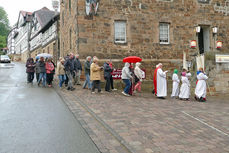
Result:
M195 95L198 98L206 98L206 94L207 94L207 85L206 85L206 80L208 79L208 77L204 74L204 73L200 73L199 75L197 75L197 85L196 85L196 89L195 89Z

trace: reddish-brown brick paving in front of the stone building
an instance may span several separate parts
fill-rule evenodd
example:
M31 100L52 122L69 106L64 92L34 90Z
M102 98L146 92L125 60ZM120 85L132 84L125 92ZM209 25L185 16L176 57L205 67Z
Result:
M160 100L121 91L57 92L102 153L229 152L229 103Z

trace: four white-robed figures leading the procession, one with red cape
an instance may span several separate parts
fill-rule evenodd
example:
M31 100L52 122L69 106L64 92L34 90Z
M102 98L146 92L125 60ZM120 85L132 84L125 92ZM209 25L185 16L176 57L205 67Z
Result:
M164 99L167 96L167 82L166 74L168 71L162 70L162 64L158 64L154 71L154 93L158 98ZM178 70L175 69L172 76L173 89L172 98L179 98L180 100L190 100L190 78L191 73L183 68L181 72L181 79L178 76ZM197 71L197 82L195 88L195 99L199 102L206 101L207 85L206 80L208 79L203 68L199 68ZM181 87L179 88L181 80Z

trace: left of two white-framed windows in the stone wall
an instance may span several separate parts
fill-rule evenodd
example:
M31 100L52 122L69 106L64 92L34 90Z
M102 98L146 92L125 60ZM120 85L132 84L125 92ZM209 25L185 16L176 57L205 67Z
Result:
M126 43L126 21L115 21L115 43Z

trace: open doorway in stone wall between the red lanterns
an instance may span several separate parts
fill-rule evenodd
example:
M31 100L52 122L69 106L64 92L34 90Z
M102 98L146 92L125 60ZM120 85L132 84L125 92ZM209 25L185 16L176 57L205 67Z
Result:
M210 51L210 26L201 26L198 34L199 52L203 54Z

